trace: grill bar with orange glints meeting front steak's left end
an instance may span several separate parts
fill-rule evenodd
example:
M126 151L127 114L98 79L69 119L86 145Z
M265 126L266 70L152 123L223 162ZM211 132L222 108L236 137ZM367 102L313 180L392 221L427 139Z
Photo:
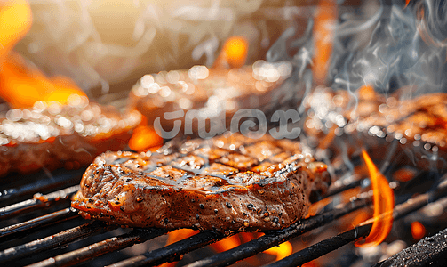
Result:
M51 206L53 202L68 199L80 189L79 185L71 186L63 190L57 190L47 195L35 194L35 198L28 199L11 206L0 208L0 219L10 218L17 214L23 214L29 210L36 210L45 206ZM43 199L43 200L40 200Z

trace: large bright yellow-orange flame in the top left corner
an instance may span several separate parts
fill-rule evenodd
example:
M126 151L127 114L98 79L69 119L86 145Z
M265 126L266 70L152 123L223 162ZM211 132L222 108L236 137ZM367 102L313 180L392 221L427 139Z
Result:
M30 108L36 101L57 101L67 104L73 94L85 96L67 77L45 77L28 66L20 55L12 53L13 46L31 27L32 16L28 2L10 0L0 4L0 96L12 108Z

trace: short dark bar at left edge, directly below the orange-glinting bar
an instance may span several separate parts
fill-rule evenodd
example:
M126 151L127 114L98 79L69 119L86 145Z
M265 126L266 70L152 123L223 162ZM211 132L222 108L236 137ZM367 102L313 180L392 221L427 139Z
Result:
M52 214L45 214L44 216L37 217L27 222L7 226L0 229L0 241L4 241L4 239L12 239L18 234L24 234L24 232L35 229L39 226L42 227L52 223L60 223L78 216L79 215L75 209L68 207Z

